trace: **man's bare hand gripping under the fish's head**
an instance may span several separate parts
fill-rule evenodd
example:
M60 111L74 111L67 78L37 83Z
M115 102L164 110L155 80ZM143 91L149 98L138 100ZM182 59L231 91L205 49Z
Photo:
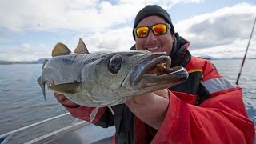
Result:
M169 106L168 90L137 95L126 102L126 106L143 122L158 130L166 117Z

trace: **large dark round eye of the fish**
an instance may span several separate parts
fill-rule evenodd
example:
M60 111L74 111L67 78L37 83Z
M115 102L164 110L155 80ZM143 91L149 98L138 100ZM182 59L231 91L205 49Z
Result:
M110 72L113 74L117 74L118 71L121 69L121 66L122 66L122 55L120 54L114 55L110 59L110 63L109 63Z

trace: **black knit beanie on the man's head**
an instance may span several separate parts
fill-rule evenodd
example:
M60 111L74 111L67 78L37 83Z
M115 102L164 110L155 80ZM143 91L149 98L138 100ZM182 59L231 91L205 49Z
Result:
M170 33L174 34L174 26L171 22L170 15L167 13L166 10L162 9L162 7L157 6L157 5L147 5L142 10L140 10L138 12L138 14L136 15L136 18L134 20L134 29L138 26L138 22L140 22L143 18L152 16L152 15L157 15L158 17L163 18L167 23L169 23L170 24ZM134 29L133 29L133 36L135 39Z

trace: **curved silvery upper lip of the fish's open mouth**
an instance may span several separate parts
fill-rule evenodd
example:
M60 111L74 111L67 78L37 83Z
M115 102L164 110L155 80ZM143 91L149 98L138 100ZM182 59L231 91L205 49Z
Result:
M150 67L165 62L168 62L169 64L171 62L170 56L166 55L165 52L152 53L149 57L143 58L136 66L134 66L134 70L127 74L122 82L122 86L133 89L134 86L138 85L138 82L142 79L142 75L146 74L146 71L149 70Z

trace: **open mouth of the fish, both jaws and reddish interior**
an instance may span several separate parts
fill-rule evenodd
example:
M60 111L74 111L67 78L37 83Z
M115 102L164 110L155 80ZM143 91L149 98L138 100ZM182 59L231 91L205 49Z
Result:
M143 88L157 86L177 85L188 78L188 73L182 66L171 68L171 58L165 53L154 53L148 58L144 58L134 70L130 71L122 86L127 89L134 89L136 86Z

